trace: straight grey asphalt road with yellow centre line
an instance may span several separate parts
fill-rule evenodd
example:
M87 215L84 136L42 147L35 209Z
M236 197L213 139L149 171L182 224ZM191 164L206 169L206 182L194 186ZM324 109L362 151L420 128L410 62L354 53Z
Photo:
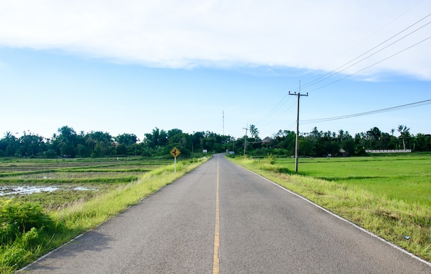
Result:
M222 155L23 273L431 273Z

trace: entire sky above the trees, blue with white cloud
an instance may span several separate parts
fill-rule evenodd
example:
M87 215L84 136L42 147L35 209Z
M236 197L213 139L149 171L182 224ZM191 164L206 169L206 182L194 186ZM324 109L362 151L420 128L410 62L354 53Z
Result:
M430 11L392 0L1 1L0 134L238 138L254 124L263 139L295 130L288 91L299 81L301 132L431 133Z

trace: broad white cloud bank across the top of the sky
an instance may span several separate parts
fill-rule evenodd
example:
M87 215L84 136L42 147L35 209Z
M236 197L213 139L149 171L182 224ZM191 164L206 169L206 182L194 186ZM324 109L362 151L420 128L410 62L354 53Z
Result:
M154 67L262 65L330 71L427 16L430 8L429 1L393 0L1 1L0 45L63 49ZM427 38L430 28L345 72L355 73L410 47ZM430 43L363 73L395 71L430 80Z

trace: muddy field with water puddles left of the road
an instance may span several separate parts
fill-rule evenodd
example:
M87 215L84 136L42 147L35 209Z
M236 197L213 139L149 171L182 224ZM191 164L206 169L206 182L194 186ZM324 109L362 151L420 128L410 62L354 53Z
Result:
M48 210L131 183L171 161L140 158L1 159L0 198L36 201Z

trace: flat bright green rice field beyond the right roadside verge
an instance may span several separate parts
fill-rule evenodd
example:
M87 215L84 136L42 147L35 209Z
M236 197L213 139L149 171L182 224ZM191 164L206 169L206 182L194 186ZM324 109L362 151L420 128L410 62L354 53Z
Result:
M295 170L295 159L275 165ZM431 155L299 159L298 172L431 209Z

